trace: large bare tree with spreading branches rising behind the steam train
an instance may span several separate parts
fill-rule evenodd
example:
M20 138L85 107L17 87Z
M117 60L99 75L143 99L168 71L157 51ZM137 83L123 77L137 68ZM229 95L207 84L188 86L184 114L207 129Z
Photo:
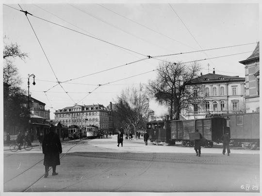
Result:
M160 102L165 102L169 108L171 120L179 120L180 111L192 105L203 105L203 98L198 96L202 89L191 84L198 76L200 66L195 62L184 63L163 62L159 65L157 78L150 80L147 89Z

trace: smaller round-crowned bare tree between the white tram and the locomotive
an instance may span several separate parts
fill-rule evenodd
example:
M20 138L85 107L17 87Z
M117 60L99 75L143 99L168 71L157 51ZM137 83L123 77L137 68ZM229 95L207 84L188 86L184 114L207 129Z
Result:
M132 125L136 136L137 126L148 119L149 105L145 87L140 85L124 90L117 98L116 108L121 123L126 128Z

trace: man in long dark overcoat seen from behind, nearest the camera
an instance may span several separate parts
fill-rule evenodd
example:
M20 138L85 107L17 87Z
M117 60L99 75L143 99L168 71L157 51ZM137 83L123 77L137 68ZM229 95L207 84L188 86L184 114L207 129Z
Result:
M55 176L56 166L60 165L59 154L62 153L62 145L59 136L54 133L53 127L50 127L49 133L44 136L42 149L44 153L45 178L48 177L48 170L51 166L53 169L52 175Z

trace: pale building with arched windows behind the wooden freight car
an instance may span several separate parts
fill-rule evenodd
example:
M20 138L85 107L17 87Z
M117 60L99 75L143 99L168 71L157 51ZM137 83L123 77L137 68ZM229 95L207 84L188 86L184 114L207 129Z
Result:
M206 74L192 81L202 90L196 96L203 97L204 106L194 104L187 110L181 111L186 119L205 118L212 114L227 114L245 112L245 78Z

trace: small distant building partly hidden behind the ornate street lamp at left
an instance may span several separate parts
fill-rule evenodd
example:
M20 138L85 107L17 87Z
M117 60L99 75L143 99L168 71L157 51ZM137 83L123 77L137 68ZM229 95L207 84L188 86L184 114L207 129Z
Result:
M50 110L45 109L46 106L45 103L40 102L39 100L34 99L33 97L30 97L29 101L30 101L30 111L33 115L40 116L47 121L50 120Z

